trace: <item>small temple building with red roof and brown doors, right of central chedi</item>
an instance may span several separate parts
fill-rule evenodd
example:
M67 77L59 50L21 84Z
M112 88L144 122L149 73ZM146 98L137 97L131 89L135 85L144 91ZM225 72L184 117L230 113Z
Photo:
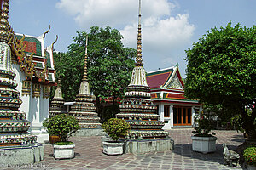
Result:
M184 97L178 65L148 72L147 82L160 120L165 122L164 129L193 126L195 112L201 110L201 103Z

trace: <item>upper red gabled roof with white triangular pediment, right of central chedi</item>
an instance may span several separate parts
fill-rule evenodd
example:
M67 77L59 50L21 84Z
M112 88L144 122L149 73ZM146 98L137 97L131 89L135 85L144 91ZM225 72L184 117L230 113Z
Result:
M148 72L147 82L151 89L184 88L177 65L158 71Z

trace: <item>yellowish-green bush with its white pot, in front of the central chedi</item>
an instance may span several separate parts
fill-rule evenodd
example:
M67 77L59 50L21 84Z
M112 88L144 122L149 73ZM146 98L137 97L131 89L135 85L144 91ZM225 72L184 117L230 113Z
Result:
M110 136L113 141L104 141L103 153L107 155L121 155L123 154L124 142L118 141L119 138L124 138L131 129L128 122L118 118L108 119L102 125L104 131Z

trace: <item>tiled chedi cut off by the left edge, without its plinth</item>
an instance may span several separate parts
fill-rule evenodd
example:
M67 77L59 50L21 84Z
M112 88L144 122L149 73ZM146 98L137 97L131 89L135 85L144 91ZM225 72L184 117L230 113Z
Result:
M14 80L16 75L15 72L12 70L11 48L8 44L9 0L2 0L1 5L0 148L2 146L32 144L35 143L37 140L36 136L27 133L30 127L30 122L26 120L26 113L23 111L19 111L22 101L20 99L20 92L15 89L17 87L17 83Z

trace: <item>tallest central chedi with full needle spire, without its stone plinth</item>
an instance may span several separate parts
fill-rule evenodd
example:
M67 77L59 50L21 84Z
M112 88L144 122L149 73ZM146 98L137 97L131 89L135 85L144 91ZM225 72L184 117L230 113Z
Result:
M168 132L161 129L164 122L160 122L160 116L155 113L157 107L150 99L150 88L143 68L141 17L139 0L136 66L132 71L131 82L126 88L125 99L119 106L121 112L116 116L125 119L131 125L131 139L166 138Z

